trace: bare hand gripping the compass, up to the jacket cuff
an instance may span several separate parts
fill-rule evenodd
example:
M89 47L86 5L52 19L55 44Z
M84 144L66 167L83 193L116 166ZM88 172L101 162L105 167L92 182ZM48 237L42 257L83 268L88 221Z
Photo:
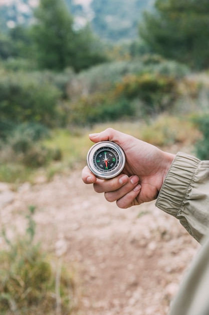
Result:
M96 192L104 192L105 198L110 202L117 201L120 208L157 198L174 154L111 128L89 137L93 142L109 140L120 145L125 152L126 163L123 174L107 181L97 179L85 167L82 172L84 183L93 183Z

